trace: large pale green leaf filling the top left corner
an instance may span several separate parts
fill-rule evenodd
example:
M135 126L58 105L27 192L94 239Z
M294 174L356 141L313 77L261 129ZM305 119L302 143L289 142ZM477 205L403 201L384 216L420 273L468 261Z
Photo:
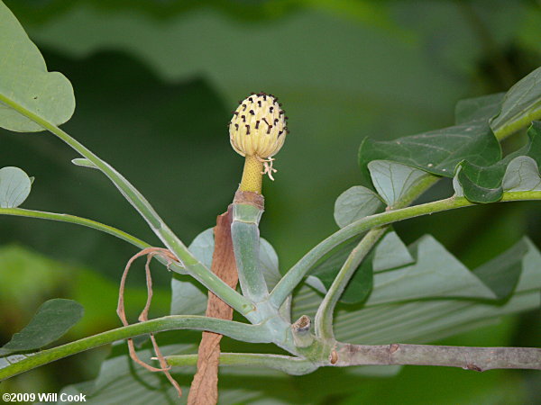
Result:
M0 1L0 127L18 132L43 128L17 112L23 108L54 125L69 120L75 97L69 80L48 72L40 50Z

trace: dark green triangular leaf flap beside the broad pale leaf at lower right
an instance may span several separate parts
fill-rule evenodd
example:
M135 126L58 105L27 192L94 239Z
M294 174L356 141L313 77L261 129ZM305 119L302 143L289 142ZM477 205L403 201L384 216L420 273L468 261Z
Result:
M528 251L524 238L508 250L473 270L473 274L488 285L499 300L507 299L518 284L522 259Z

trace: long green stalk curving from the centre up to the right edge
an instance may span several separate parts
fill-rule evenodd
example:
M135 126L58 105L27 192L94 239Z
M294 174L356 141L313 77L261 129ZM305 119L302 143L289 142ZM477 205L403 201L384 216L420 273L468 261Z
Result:
M503 193L500 202L527 200L541 200L541 191ZM353 238L372 228L378 228L399 220L408 220L410 218L434 212L453 210L454 208L469 207L473 205L478 204L469 202L464 197L451 197L445 200L426 202L425 204L414 205L399 210L385 211L369 217L364 217L361 220L356 220L321 241L316 247L313 247L312 250L302 257L295 266L291 267L289 272L282 277L280 283L272 290L270 300L275 307L279 308L281 303L288 298L293 289L295 289L305 275L307 275L308 271L316 265L317 260L349 238Z

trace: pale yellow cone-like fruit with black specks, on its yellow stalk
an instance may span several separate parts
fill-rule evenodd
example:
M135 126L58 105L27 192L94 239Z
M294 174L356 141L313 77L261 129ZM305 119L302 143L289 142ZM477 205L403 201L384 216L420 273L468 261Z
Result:
M252 94L239 102L229 123L229 139L234 150L243 157L243 180L239 189L261 193L261 177L272 180L273 156L278 153L289 130L285 111L272 94Z

